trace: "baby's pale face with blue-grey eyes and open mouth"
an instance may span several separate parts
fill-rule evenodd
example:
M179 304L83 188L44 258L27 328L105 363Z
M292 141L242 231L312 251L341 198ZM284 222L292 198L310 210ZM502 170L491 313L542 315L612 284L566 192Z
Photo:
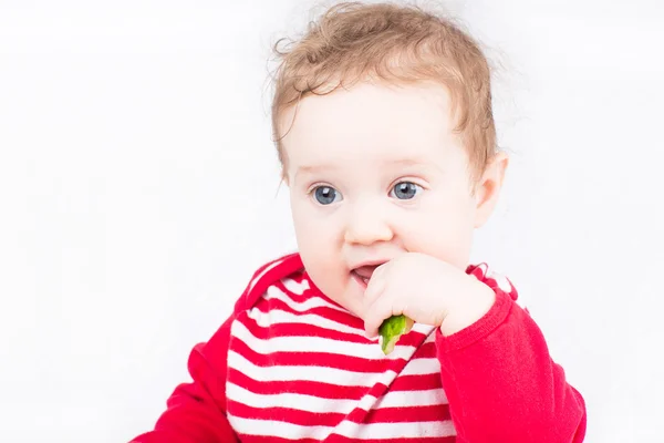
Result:
M300 103L283 140L299 251L313 282L359 317L371 265L407 251L468 265L481 222L453 124L434 85L360 83Z

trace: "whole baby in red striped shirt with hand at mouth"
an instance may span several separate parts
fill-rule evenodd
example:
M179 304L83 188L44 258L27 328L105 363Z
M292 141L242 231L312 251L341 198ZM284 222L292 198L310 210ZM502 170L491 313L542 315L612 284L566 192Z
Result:
M133 442L582 442L584 401L516 289L468 264L508 165L478 45L343 3L276 50L298 253L256 271ZM414 326L383 350L395 317Z

